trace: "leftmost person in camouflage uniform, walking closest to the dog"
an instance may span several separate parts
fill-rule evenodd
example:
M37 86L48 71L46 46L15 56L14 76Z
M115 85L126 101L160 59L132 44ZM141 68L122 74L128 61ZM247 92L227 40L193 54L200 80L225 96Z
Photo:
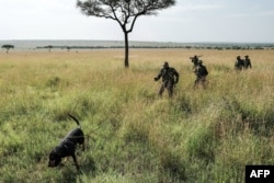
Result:
M167 89L169 96L171 98L173 95L173 89L179 81L178 71L174 68L169 67L169 64L165 61L163 64L163 68L160 70L158 76L155 78L155 81L158 81L160 78L162 78L162 84L161 84L161 88L160 88L158 94L161 96L164 89Z

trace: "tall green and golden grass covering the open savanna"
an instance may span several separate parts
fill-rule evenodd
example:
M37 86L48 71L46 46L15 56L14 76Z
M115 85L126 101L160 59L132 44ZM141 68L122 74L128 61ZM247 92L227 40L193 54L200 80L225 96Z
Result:
M206 89L189 59L203 55ZM233 70L249 55L253 68ZM0 53L0 182L244 182L244 165L274 164L274 50L123 49ZM157 95L163 61L180 72ZM62 167L48 155L76 127L87 149Z

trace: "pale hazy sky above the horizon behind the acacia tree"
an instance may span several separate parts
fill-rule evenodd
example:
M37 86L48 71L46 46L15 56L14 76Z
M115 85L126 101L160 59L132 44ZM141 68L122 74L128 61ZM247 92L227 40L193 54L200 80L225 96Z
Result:
M0 0L0 39L124 41L117 22L87 16L77 0ZM129 41L274 43L274 0L176 0L139 16Z

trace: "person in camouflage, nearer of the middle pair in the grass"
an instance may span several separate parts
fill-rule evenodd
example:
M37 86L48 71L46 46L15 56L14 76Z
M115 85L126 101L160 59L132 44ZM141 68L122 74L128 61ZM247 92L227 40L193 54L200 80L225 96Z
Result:
M197 87L197 84L202 84L203 88L205 88L205 81L206 77L208 75L208 71L206 67L203 65L203 61L199 60L193 72L196 75L196 80L194 82L194 89Z

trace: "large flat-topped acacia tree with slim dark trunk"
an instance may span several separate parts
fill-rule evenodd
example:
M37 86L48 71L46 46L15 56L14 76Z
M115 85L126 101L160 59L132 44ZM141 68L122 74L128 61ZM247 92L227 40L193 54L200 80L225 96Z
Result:
M137 18L155 15L157 10L175 4L175 0L78 0L77 7L85 15L105 18L116 21L124 32L125 67L128 61L128 34L133 32Z

